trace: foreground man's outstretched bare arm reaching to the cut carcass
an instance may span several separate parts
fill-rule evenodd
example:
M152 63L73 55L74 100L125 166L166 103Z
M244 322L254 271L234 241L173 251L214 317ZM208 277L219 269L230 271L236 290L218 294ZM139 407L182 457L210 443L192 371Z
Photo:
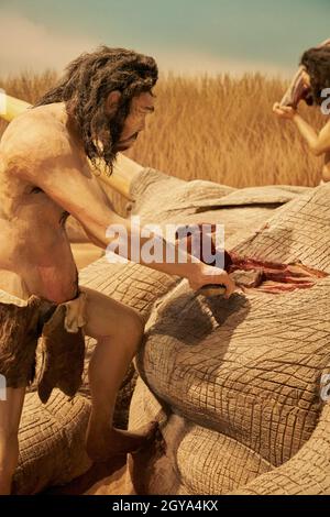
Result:
M12 174L28 180L44 190L50 198L52 198L58 206L68 211L75 217L84 227L86 233L91 242L106 249L111 242L106 237L107 229L110 224L121 224L128 234L128 258L131 260L132 253L130 249L132 234L135 238L139 234L140 249L148 241L148 238L143 238L140 232L131 226L130 220L118 216L108 204L105 202L102 190L92 177L85 176L78 168L76 158L72 154L72 150L65 152L64 145L57 145L56 148L61 153L51 153L51 156L41 157L40 153L44 150L38 150L36 160L30 160L26 164L25 153L20 153L12 160ZM167 243L163 240L163 256L166 256ZM200 261L196 262L188 253L175 246L175 263L144 263L140 260L141 264L146 265L153 270L158 270L170 275L177 275L188 278L190 286L198 289L202 285L218 284L227 287L227 296L229 297L234 290L234 283L222 270L202 264ZM179 262L180 257L180 262ZM186 263L184 263L186 262Z

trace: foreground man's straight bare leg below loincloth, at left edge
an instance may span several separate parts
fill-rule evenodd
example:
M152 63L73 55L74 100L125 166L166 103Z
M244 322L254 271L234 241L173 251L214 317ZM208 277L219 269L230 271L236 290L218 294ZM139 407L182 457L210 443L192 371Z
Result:
M7 388L0 400L0 495L11 493L12 477L19 460L19 426L25 387Z

